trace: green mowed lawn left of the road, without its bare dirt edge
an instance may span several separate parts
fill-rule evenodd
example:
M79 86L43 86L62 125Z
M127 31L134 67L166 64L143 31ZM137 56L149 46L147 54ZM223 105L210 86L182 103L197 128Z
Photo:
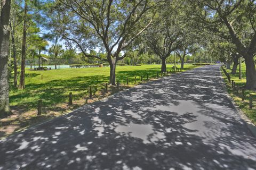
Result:
M172 69L171 64L167 64L167 69ZM179 65L178 65L179 67ZM193 67L185 64L185 67ZM141 76L146 80L160 75L161 65L141 65L141 66L117 66L116 79L121 84L134 84L134 77L140 83ZM43 79L42 79L43 75ZM10 105L21 106L25 109L36 109L39 99L43 100L43 105L47 107L68 102L69 92L73 92L74 99L82 99L89 96L89 87L92 86L93 94L103 89L104 84L109 79L109 67L92 67L81 69L60 69L47 71L26 70L25 90L11 88Z

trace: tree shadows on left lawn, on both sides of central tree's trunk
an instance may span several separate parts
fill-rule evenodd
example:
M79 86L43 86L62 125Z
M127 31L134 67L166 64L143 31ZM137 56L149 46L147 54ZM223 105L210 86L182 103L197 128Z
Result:
M171 69L171 68L168 68ZM137 82L141 82L148 78L156 78L156 73L161 71L158 68L134 70L134 71L118 71L116 75L117 81L126 83L126 78L129 78L129 83L134 83L134 77L137 77ZM33 76L38 74L31 73ZM159 73L160 76L160 73ZM25 90L18 91L18 94L10 96L10 103L17 103L18 106L23 106L27 109L36 108L39 99L43 99L44 106L51 106L60 103L67 103L68 93L73 92L74 99L81 99L89 96L89 87L92 86L93 94L104 88L108 82L107 76L90 76L76 77L67 80L52 80L46 83L29 83Z

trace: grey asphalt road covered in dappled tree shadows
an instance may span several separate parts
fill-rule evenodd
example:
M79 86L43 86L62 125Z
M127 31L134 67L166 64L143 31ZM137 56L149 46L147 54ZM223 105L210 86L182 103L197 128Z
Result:
M148 82L0 141L0 169L256 169L218 66Z

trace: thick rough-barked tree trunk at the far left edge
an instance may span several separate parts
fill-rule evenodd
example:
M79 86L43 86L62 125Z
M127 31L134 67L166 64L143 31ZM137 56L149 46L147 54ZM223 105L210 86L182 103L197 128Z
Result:
M9 19L11 1L6 0L0 8L0 117L10 113L9 106L9 83L8 83L8 47L9 47Z

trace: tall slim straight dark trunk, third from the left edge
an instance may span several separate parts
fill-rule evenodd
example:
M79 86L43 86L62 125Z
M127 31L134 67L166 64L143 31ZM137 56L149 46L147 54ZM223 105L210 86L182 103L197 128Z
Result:
M28 6L27 6L27 0L25 0L19 89L25 89L25 56L26 56L27 13L28 13Z

